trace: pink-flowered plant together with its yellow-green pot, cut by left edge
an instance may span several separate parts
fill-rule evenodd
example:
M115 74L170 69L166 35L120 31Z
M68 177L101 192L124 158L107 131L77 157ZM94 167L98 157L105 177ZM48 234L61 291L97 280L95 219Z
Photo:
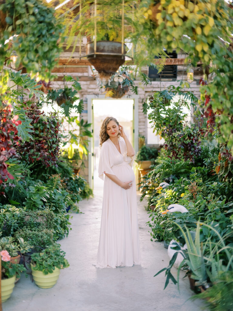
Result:
M11 256L7 250L1 251L1 295L2 302L7 301L11 296L13 288L15 286L16 277L22 272L25 272L25 267L18 263L12 263L10 261Z

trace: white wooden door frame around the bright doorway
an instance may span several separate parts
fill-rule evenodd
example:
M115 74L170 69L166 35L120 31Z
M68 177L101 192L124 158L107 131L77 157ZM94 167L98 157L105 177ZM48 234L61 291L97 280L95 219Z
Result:
M111 97L105 97L105 95L86 95L87 98L87 121L91 123L91 132L93 132L93 104L92 101L94 99L103 99L103 100L114 100ZM121 99L125 100L134 100L133 104L133 145L135 152L138 152L138 100L139 95L130 95L130 97L123 96ZM116 99L119 100L119 99ZM93 176L92 176L92 162L91 157L93 151L92 140L88 143L88 182L91 188L93 188Z

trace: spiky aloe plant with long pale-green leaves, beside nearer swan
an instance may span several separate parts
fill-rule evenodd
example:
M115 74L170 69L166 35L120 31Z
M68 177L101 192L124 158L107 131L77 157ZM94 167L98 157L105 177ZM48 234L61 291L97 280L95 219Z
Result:
M163 268L160 270L155 276L159 273L166 270L166 282L165 287L167 287L169 280L173 281L174 284L177 283L179 288L179 274L181 267L185 265L189 267L192 271L192 278L196 280L196 285L204 285L206 288L209 287L208 285L208 277L212 283L216 283L220 278L221 275L225 272L233 270L233 247L231 245L225 245L224 240L227 238L227 234L225 236L221 236L216 229L212 226L197 222L197 230L195 240L193 241L192 235L190 230L185 226L186 233L180 227L180 225L173 222L177 225L185 239L185 243L187 244L187 250L182 250L177 243L174 249L177 252L173 255L171 261L169 262L169 266L167 268ZM218 237L218 242L212 243L210 238L207 239L205 243L200 242L200 225L203 225L210 230L213 230ZM178 253L181 253L184 257L184 260L181 262L180 266L178 267L177 272L177 280L171 274L171 268L176 260ZM220 259L219 254L224 252L226 254L226 258L228 262L224 265L223 260Z

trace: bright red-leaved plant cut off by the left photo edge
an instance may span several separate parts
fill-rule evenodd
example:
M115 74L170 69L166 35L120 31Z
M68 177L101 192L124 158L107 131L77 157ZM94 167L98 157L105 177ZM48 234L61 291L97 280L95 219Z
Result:
M3 185L7 179L14 179L14 177L7 171L7 159L16 156L16 149L14 142L18 144L19 137L17 136L17 125L21 121L17 121L18 116L12 118L11 106L6 101L2 101L0 105L0 185ZM1 192L1 194L3 194Z

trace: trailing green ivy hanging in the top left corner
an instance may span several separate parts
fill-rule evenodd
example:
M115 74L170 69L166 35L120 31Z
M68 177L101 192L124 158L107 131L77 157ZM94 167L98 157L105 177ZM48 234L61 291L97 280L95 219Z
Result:
M0 68L12 50L18 56L16 66L20 64L28 72L49 78L61 52L58 40L63 41L64 27L54 16L54 9L41 0L6 0L1 3L0 26ZM5 41L13 36L12 46ZM49 53L48 53L49 52Z

